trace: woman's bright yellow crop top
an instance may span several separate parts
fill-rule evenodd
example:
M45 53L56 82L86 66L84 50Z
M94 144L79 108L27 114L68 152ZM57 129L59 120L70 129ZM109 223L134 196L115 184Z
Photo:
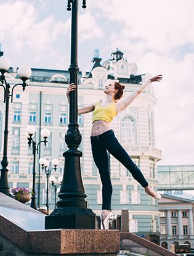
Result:
M94 108L94 117L92 120L92 123L95 120L103 120L108 123L111 123L111 120L113 120L114 117L116 117L116 110L115 110L115 104L116 102L113 102L109 105L100 105L100 101L95 105Z

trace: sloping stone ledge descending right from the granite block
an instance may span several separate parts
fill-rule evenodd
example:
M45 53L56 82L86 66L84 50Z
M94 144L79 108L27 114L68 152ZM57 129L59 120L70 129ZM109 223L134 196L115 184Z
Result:
M142 237L136 236L132 233L120 233L120 239L125 240L129 239L133 242L136 242L137 244L141 245L142 247L146 247L149 250L153 250L154 252L157 252L160 255L164 256L179 256L177 254L174 254L174 252L171 252L167 249L164 249L161 246L158 246L158 244L153 244L153 242L150 242Z

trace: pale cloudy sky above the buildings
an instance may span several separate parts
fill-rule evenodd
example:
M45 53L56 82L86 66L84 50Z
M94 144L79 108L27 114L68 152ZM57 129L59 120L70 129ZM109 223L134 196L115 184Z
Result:
M78 64L92 68L116 50L153 83L158 165L194 165L194 1L79 0ZM71 12L67 0L1 0L1 51L11 66L68 70Z

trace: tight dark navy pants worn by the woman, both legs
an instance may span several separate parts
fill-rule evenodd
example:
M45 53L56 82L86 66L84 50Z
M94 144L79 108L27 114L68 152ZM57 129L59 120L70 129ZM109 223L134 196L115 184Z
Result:
M113 130L106 131L98 136L91 136L91 145L94 162L99 169L102 181L102 210L111 210L111 195L113 192L110 173L108 172L107 151L131 172L134 179L137 180L143 188L148 186L147 180L145 180L137 165L132 162L131 157L129 157L121 144L119 144Z

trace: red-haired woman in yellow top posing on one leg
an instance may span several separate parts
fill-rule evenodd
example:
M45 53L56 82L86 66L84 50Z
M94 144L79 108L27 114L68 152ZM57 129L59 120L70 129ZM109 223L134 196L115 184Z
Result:
M124 167L129 170L135 180L137 180L145 192L155 199L160 199L161 196L158 192L154 191L150 186L148 186L147 180L145 180L142 172L137 168L134 162L132 162L131 157L123 149L121 144L115 137L114 131L111 130L111 120L119 114L122 110L131 104L132 101L142 93L150 83L154 81L161 81L162 75L153 76L148 79L143 85L141 85L134 93L127 97L124 101L119 101L123 96L124 86L116 82L111 82L110 85L105 86L104 93L107 94L107 99L102 102L95 102L91 105L82 107L78 109L79 114L86 114L94 111L94 117L92 120L92 130L91 130L91 145L92 145L92 155L94 157L94 162L99 169L100 178L102 181L102 225L104 229L107 229L108 218L112 216L110 212L111 205L111 194L112 185L110 180L110 174L108 171L108 155L107 151L110 152L113 157L115 157L119 162L121 162ZM67 98L70 101L69 94L74 91L76 86L71 83L67 88Z

